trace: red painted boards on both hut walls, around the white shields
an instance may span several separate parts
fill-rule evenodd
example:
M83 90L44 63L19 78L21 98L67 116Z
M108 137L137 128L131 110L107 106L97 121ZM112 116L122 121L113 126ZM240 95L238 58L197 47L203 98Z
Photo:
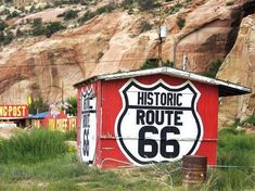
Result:
M136 77L136 80L143 85L152 85L164 80L171 87L180 86L187 80L164 76L142 76ZM87 85L78 89L78 144L80 145L80 94L88 87L93 87L97 97L97 149L93 164L102 165L102 167L126 166L130 164L130 160L124 154L119 148L119 143L115 137L115 123L123 109L123 100L119 89L129 79L104 80ZM208 164L216 164L217 153L217 119L218 119L218 88L201 82L191 81L201 93L197 101L197 113L203 126L203 137L195 155L205 155ZM186 127L189 128L189 127ZM131 127L130 127L131 130Z

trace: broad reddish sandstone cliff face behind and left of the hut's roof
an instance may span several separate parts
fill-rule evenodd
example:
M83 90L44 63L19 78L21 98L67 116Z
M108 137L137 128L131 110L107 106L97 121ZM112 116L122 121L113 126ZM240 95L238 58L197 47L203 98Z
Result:
M181 68L186 52L188 71L199 73L211 62L222 60L232 47L229 37L250 2L253 0L226 5L226 0L194 0L176 14L164 14L162 23L168 36L163 42L163 60L176 58L176 67ZM46 10L42 16L48 20L49 14ZM186 20L181 29L178 17ZM128 14L118 9L51 38L29 38L4 47L0 52L0 104L26 103L29 94L55 102L62 88L64 99L76 96L73 85L87 77L139 68L146 59L157 56L158 21L155 13ZM142 22L150 23L152 29L141 33Z

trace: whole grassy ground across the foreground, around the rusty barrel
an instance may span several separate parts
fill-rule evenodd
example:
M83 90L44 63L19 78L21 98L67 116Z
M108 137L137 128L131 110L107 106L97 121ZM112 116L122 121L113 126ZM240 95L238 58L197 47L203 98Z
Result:
M35 130L2 141L0 190L187 190L182 186L181 163L101 170L78 162L76 153L67 153L65 139L63 132ZM189 190L255 190L255 169L251 167L255 165L254 145L254 135L245 135L232 128L219 131L218 165L238 167L209 168L205 183ZM9 149L2 154L7 147ZM12 152L13 155L10 154Z

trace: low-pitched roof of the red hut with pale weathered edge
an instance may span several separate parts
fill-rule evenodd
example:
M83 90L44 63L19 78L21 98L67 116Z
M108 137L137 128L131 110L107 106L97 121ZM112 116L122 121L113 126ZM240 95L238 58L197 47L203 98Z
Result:
M214 79L205 76L201 76L194 73L180 71L171 67L157 67L153 69L142 69L142 71L132 71L132 72L125 72L125 73L115 73L115 74L106 74L100 76L93 76L91 78L85 79L80 82L74 85L74 87L78 88L86 84L93 82L95 80L114 80L114 79L124 79L124 78L132 78L137 76L148 76L148 75L169 75L173 77L178 77L182 79L188 79L192 81L199 81L212 86L219 87L219 97L228 97L228 96L238 96L238 94L245 94L252 92L251 88L243 87L237 84L232 84L229 81L224 81L219 79Z

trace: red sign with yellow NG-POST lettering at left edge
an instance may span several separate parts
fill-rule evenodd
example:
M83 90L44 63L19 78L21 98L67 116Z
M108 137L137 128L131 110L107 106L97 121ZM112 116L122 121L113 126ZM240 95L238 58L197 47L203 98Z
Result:
M28 105L0 105L0 117L4 118L28 117Z

